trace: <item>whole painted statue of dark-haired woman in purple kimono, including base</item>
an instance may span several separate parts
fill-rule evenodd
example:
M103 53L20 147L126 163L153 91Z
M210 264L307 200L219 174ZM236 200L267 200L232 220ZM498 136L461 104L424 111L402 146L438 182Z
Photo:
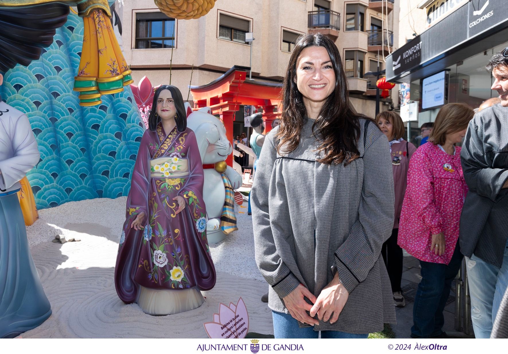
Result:
M180 90L162 85L139 147L116 259L120 299L151 315L192 310L215 285L203 166Z

